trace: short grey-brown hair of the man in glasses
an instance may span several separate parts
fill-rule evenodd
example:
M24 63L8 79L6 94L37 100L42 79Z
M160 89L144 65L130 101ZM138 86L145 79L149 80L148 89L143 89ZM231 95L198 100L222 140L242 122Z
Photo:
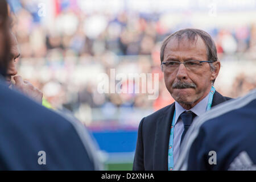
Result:
M189 41L194 42L198 39L198 36L203 39L205 46L207 48L207 59L211 60L211 61L217 61L218 60L218 56L217 56L217 49L216 46L214 44L213 39L210 37L210 35L203 31L203 30L199 30L199 29L195 29L195 28L186 28L183 30L179 30L174 32L174 34L171 34L169 36L167 36L166 39L164 39L163 44L161 46L160 49L160 60L161 63L164 60L164 49L166 48L167 43L172 39L172 38L177 38L178 43L180 42L180 40L182 40L183 38L187 38ZM210 65L210 70L214 71L215 68L213 66L212 63L209 63ZM214 83L215 80L213 80Z

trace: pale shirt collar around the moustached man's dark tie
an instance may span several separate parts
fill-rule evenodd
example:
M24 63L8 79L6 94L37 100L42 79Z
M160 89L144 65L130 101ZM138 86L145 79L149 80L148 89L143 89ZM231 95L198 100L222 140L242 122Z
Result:
M193 106L190 110L195 113L197 116L204 114L205 111L207 110L207 105L208 105L208 100L209 100L209 94L203 98L197 105ZM185 110L179 103L175 101L175 122L174 125L176 125L176 122L178 118L180 117L180 114L183 113Z

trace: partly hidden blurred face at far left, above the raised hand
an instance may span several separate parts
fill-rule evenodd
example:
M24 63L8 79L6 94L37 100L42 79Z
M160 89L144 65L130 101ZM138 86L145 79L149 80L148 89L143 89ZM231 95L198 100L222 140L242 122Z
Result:
M8 69L7 69L7 76L6 76L6 82L8 85L11 84L11 77L12 76L15 76L18 71L17 71L17 68L16 68L16 64L18 62L18 59L19 59L19 56L20 56L20 51L19 51L19 48L18 48L18 42L15 38L15 35L13 33L11 33L11 55L10 55L10 60L9 60L9 66L8 66Z

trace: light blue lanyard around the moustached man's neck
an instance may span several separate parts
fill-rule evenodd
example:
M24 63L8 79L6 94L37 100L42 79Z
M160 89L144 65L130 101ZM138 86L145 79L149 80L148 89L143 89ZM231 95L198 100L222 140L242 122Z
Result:
M213 94L215 93L215 88L212 86L210 89L209 93L209 99L208 99L208 104L207 104L207 110L210 110L210 107L212 107L212 99L213 99ZM174 111L174 117L172 118L172 125L171 125L171 133L170 133L170 139L169 139L169 146L168 146L168 170L172 171L174 169L174 123L175 123L175 114L176 110Z

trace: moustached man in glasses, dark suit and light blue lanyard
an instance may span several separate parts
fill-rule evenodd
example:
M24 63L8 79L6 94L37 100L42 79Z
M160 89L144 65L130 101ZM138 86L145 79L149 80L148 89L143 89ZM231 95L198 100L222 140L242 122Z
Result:
M171 34L162 44L160 60L166 88L175 103L142 119L134 170L171 171L195 117L229 100L213 87L220 61L207 32L188 28Z

